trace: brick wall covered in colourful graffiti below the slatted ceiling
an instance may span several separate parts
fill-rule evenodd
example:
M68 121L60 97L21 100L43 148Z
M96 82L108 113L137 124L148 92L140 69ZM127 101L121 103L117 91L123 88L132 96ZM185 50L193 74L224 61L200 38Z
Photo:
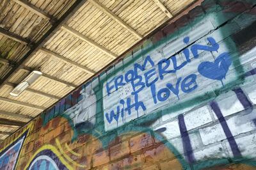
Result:
M8 137L0 169L256 169L255 5L205 0Z

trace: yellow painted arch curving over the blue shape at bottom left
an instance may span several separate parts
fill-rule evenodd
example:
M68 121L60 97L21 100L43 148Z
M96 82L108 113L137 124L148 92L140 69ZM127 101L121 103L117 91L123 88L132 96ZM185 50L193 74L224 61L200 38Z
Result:
M70 170L73 170L74 168L71 167L67 162L66 160L61 157L61 153L55 148L55 146L52 146L51 144L45 144L44 146L42 146L41 148L39 148L39 150L37 150L33 157L29 160L29 163L26 165L25 169L28 169L28 166L30 164L30 162L32 162L32 160L36 157L36 155L38 153L40 153L41 151L44 151L44 150L51 150L56 156L58 156L58 158L60 159L61 163L63 165L65 165L67 167L67 169L70 169Z

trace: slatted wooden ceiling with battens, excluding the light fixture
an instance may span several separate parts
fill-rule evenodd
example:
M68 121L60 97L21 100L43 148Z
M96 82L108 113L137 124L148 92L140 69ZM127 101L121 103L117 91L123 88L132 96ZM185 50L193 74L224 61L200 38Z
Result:
M1 0L0 140L193 0ZM32 70L43 75L19 97Z

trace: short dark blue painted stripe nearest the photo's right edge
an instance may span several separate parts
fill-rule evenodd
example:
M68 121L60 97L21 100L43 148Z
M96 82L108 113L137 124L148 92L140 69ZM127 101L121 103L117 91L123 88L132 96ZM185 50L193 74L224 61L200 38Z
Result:
M243 105L244 109L246 109L248 113L252 112L253 111L252 103L250 102L248 97L246 97L246 95L244 94L243 89L237 88L237 89L233 89L233 91L236 93L236 96L240 101L240 103ZM253 120L253 123L254 125L256 125L256 119Z

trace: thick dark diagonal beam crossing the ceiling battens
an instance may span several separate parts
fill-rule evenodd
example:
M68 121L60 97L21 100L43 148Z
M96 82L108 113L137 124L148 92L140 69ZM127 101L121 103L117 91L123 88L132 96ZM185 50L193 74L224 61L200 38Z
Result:
M77 10L81 8L84 3L86 3L86 1L87 0L74 1L70 8L68 8L68 10L63 15L61 15L60 19L53 22L52 27L44 34L44 36L42 36L35 44L31 45L30 50L23 56L23 58L20 59L19 63L13 66L12 70L4 75L3 79L0 80L0 88L4 86L4 83L9 81L12 75L23 68L24 63L29 61L29 59L31 59L36 54L36 52L42 48L44 44L52 38L52 36L55 35L61 26L65 24L67 20L69 20L74 15L74 13L76 13Z

